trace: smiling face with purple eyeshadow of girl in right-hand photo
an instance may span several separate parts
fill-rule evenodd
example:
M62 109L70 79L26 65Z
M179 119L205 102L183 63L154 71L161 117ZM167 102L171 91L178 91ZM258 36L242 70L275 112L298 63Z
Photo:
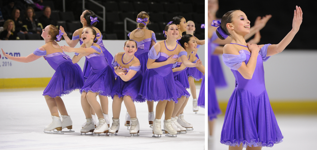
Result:
M232 22L227 23L227 27L228 27L228 24L230 24L231 27L233 27L233 30L237 34L241 34L243 36L250 34L250 21L248 20L245 13L241 10L236 10L235 12L233 12ZM229 25L229 27L230 27L230 25Z

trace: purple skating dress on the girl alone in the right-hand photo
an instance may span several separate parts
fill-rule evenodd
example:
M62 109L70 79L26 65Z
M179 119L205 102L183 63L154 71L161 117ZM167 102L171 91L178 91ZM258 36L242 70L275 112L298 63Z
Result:
M237 71L242 62L248 64L251 53L248 47L237 46L240 55L223 54L223 62L236 78L236 88L229 99L220 142L229 146L272 147L282 142L283 135L277 125L265 89L263 61L267 61L264 45L256 60L252 79L245 79ZM238 48L237 48L238 47Z

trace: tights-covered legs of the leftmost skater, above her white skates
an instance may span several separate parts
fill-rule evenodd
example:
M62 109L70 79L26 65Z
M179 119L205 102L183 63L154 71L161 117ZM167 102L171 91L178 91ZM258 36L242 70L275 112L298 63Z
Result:
M46 100L47 106L49 106L49 111L52 116L58 117L58 111L61 113L61 115L68 116L65 104L61 97L52 98L48 95L45 95L44 98Z

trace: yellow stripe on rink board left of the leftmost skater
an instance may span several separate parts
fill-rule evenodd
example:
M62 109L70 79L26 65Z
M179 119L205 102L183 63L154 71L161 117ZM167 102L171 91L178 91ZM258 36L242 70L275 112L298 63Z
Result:
M51 78L0 78L0 89L46 87Z

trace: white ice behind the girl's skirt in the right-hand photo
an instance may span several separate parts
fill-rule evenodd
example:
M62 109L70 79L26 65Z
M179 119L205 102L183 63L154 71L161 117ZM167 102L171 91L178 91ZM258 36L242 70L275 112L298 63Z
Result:
M315 115L275 115L284 136L283 141L273 147L262 147L262 150L315 150L317 141L317 116ZM228 150L227 145L220 143L224 115L215 123L214 137L208 139L209 150ZM207 133L206 133L207 134ZM209 133L208 133L209 134ZM245 148L243 148L245 150Z

